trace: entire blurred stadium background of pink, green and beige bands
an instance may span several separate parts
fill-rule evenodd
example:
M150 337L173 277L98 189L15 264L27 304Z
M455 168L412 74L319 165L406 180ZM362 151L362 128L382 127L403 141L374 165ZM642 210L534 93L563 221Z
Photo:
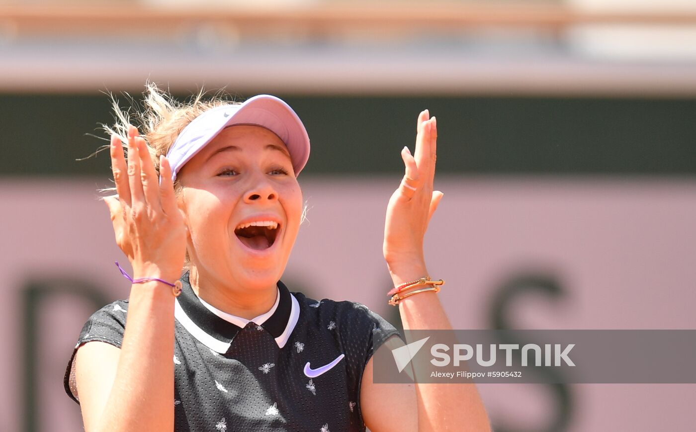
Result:
M76 159L104 144L104 92L126 106L147 79L299 113L293 290L398 324L384 210L428 108L445 197L427 259L455 328L695 328L693 0L0 0L2 431L81 430L65 364L128 285L96 199L109 155ZM480 390L496 431L696 424L694 385Z

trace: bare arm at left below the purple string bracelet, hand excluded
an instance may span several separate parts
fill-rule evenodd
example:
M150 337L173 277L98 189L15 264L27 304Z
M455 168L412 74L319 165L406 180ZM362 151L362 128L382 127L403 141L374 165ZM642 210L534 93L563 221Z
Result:
M174 296L161 282L134 284L122 348L88 342L75 357L86 432L173 431Z

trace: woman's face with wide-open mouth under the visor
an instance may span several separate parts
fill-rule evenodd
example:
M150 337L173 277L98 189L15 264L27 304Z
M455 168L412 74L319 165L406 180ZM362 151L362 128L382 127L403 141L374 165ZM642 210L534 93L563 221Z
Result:
M275 286L302 215L283 141L263 127L228 127L178 177L189 257L199 274L221 286Z

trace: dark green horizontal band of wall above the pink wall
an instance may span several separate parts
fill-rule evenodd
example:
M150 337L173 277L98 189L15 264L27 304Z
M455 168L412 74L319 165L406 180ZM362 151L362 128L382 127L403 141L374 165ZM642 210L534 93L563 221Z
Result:
M438 118L438 173L696 173L696 99L280 95L312 140L308 174L402 170L418 112ZM122 104L126 99L122 99ZM105 95L0 95L0 176L109 175Z

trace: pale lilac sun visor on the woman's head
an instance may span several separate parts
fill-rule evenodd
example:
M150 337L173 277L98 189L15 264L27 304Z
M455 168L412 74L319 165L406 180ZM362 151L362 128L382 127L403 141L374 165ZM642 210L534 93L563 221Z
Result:
M222 129L233 125L265 127L276 134L290 153L295 175L299 175L309 159L309 136L295 111L278 97L258 95L243 104L217 106L205 111L184 127L167 152L172 181L182 166Z

